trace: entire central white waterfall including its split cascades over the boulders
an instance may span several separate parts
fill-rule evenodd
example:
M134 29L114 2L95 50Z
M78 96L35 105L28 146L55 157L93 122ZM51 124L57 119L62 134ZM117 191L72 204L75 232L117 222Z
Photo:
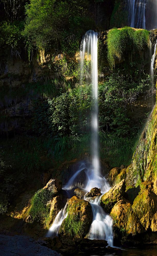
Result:
M93 30L89 30L83 36L81 47L80 47L80 85L83 86L83 81L86 76L86 81L92 83L92 113L91 113L91 164L87 162L80 162L80 166L74 175L69 179L69 182L63 187L63 189L70 191L76 187L77 177L84 172L86 174L86 180L84 189L88 192L91 188L101 188L101 193L109 191L110 186L100 173L100 162L99 162L99 122L98 122L98 63L97 63L97 43L98 34ZM90 65L85 67L85 59L90 62ZM84 70L86 69L86 73ZM84 183L83 183L84 184ZM68 193L67 193L68 194ZM70 195L70 193L69 193ZM101 195L102 196L102 195ZM89 239L105 239L109 246L113 246L113 232L112 232L112 219L106 214L100 206L100 197L95 199L86 197L92 207L93 221L87 238ZM58 235L59 228L62 221L66 218L66 206L58 213L53 225L50 227L47 236Z

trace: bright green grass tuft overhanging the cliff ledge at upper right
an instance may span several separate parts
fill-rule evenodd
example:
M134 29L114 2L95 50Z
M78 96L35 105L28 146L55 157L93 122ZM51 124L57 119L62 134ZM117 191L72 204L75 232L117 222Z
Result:
M110 66L115 66L115 58L119 60L128 52L141 51L149 46L150 31L124 27L109 30L107 37L108 61Z

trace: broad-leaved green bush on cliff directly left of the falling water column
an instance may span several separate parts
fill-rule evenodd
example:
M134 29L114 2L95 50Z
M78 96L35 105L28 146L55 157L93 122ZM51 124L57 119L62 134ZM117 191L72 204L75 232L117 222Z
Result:
M77 136L89 122L90 104L90 86L69 89L56 98L48 98L42 105L37 103L33 130L35 133L49 133L57 137L70 134Z

